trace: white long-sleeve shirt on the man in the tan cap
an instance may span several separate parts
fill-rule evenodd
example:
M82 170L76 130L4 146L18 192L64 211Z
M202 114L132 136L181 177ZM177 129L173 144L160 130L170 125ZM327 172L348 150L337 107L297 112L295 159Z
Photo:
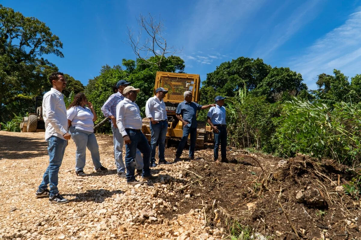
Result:
M128 135L125 128L142 129L142 117L136 103L125 98L117 105L117 126L122 136Z

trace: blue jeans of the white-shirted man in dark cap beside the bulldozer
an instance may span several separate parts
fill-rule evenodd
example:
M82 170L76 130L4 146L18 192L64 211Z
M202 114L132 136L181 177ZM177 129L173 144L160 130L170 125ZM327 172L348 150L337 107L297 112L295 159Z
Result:
M152 148L152 158L151 162L156 161L156 147L158 142L158 157L159 160L165 160L164 158L164 149L165 149L165 136L167 135L168 131L168 122L167 121L161 121L157 124L151 123L151 133L152 133L152 139L151 139L151 148Z

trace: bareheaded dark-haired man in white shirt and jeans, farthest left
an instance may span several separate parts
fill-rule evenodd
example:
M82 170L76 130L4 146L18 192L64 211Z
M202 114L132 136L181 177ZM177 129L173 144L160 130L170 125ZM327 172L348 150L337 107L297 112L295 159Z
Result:
M53 87L43 97L43 118L45 140L48 142L49 166L43 175L43 181L39 185L35 197L49 197L50 203L64 204L69 200L59 194L57 185L59 168L65 147L70 139L64 95L61 93L66 88L66 80L63 73L56 72L49 76L49 81Z

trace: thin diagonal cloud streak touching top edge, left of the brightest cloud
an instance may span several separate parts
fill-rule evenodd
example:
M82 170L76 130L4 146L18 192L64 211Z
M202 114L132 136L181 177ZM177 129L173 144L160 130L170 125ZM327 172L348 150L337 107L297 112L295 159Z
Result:
M266 32L258 41L256 51L252 54L255 57L265 58L273 51L287 42L297 31L312 21L319 12L317 5L322 0L308 0L296 8L291 15L282 23L276 24L271 32ZM282 5L283 9L288 3ZM279 11L276 11L279 12ZM271 15L269 21L273 21L275 14Z

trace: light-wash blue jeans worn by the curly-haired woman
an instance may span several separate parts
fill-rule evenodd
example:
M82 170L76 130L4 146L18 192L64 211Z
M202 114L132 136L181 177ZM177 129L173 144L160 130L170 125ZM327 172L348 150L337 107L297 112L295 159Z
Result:
M96 141L95 134L93 132L90 133L82 130L77 130L73 126L69 128L69 133L71 134L71 139L73 139L73 141L75 142L75 146L77 146L77 151L75 152L75 171L83 171L85 167L87 148L90 151L94 167L96 169L100 168L101 163L99 146Z

